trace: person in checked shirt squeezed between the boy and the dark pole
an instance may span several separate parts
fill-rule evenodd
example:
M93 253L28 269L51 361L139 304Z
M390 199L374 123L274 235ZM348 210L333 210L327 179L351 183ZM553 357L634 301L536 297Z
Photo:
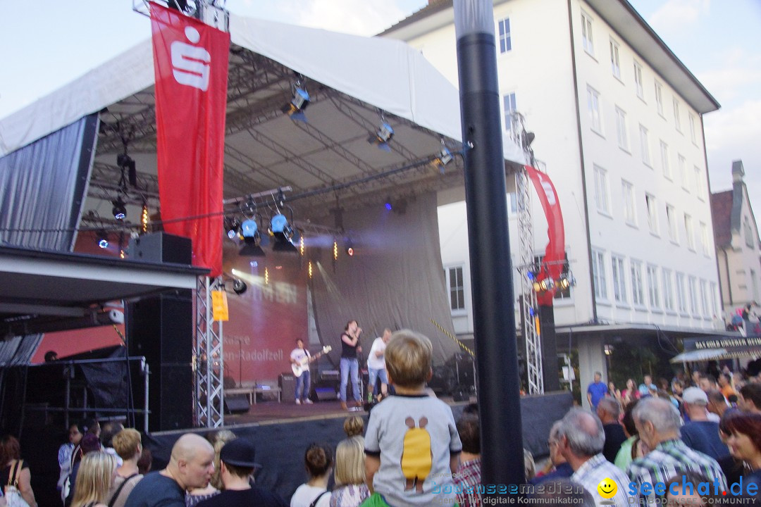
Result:
M481 493L477 488L481 484L481 434L478 418L478 405L471 403L463 409L457 420L457 433L463 442L460 453L460 466L454 474L454 490L460 507L481 507Z

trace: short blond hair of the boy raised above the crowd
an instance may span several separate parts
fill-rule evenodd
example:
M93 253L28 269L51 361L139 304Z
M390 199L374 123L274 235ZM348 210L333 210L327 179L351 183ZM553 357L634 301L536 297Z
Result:
M409 329L396 331L386 347L386 369L401 387L425 384L431 372L433 346L428 337Z

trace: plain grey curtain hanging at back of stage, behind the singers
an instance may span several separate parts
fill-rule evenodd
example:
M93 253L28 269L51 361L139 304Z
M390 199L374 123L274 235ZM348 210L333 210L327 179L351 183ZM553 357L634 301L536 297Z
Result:
M392 211L383 204L352 209L343 214L343 226L338 260L323 255L311 284L317 333L323 345L333 347L333 363L338 364L340 336L352 319L363 330L363 357L384 328L409 328L431 338L435 363L456 353L459 346L431 322L452 332L436 196L394 202ZM355 250L351 257L347 246Z

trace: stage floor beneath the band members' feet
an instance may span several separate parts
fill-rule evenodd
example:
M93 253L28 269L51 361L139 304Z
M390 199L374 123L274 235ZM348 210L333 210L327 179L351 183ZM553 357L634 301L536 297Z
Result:
M465 405L467 401L454 402L452 398L440 398L449 405ZM476 401L476 397L470 398ZM350 407L352 408L352 407ZM348 417L350 415L366 416L367 410L343 410L340 401L317 401L310 405L297 405L293 401L258 401L250 405L245 414L224 414L224 426L240 424L279 424L298 420L328 419L333 417Z

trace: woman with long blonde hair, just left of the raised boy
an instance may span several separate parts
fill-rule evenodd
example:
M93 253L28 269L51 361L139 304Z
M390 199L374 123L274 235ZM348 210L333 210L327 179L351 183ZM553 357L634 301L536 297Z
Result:
M370 496L365 484L365 439L361 436L339 442L335 479L330 507L357 507Z

